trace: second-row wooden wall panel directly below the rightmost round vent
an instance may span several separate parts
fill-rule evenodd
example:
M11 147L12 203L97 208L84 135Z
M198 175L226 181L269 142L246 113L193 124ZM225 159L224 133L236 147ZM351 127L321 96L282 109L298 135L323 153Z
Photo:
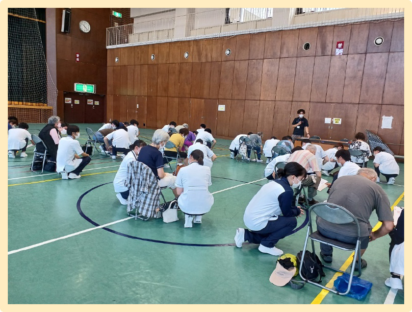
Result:
M381 104L389 53L368 53L363 70L359 103Z

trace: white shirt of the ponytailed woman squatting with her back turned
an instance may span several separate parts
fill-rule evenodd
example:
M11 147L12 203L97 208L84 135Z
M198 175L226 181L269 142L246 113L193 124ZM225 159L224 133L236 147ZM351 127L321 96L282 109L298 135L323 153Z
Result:
M213 206L213 195L208 187L212 185L210 168L198 163L180 168L175 185L183 188L178 198L179 207L186 214L201 215Z

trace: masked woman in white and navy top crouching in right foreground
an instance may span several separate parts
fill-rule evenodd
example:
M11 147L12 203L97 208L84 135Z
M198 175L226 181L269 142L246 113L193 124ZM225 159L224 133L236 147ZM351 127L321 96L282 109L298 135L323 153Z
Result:
M304 215L299 206L292 206L292 187L301 185L306 177L306 169L290 162L283 169L278 169L277 174L279 179L262 186L246 207L243 221L249 229L236 230L234 241L237 247L249 241L260 244L260 252L273 256L283 254L275 244L290 235L297 225L296 217Z

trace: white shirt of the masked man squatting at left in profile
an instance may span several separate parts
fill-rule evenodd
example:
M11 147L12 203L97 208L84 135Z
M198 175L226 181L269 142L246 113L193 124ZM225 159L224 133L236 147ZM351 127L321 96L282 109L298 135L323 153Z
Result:
M72 136L61 138L57 148L56 157L56 171L57 172L71 172L76 169L80 163L80 158L75 158L75 155L81 155L83 150L77 140Z

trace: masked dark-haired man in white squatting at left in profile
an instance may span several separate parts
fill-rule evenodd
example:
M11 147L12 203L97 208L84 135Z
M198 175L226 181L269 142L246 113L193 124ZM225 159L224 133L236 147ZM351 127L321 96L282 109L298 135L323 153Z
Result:
M61 173L62 179L80 178L81 170L90 163L89 154L83 152L76 140L79 137L79 128L76 125L70 125L67 127L67 137L60 140L57 149L56 171Z

